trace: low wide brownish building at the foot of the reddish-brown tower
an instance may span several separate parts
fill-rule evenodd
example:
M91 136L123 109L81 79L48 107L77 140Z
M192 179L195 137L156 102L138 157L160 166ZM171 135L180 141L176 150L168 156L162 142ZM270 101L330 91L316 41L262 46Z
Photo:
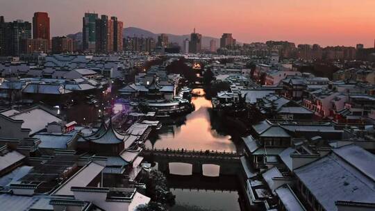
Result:
M46 53L49 51L49 40L47 39L22 39L20 42L20 52L22 54Z

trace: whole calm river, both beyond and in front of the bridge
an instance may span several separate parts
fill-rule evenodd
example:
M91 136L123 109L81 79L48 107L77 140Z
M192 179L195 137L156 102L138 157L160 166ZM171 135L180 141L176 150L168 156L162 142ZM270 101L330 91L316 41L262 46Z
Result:
M194 92L204 93L197 89ZM192 97L194 112L182 119L174 119L164 123L158 134L151 135L146 147L154 149L185 149L210 151L236 151L238 147L233 142L231 131L226 131L219 119L212 115L211 101L204 96ZM191 172L186 164L169 164L171 174L189 175ZM203 169L205 171L205 169ZM218 171L218 169L208 169ZM174 172L174 173L172 173ZM186 176L189 177L189 176ZM219 186L219 185L218 185ZM240 210L237 191L171 189L176 195L174 211L224 211Z

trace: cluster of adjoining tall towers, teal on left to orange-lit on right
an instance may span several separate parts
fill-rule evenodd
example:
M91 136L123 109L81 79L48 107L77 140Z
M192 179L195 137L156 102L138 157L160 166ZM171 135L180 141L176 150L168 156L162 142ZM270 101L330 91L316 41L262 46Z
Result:
M122 51L124 23L117 17L85 13L83 17L83 51L111 53Z

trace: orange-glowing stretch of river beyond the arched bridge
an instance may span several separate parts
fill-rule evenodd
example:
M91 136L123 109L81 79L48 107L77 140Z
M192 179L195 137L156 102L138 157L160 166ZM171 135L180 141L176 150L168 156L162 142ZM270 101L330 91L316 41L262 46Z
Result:
M203 90L199 89L199 92ZM195 106L192 113L184 119L176 119L174 124L163 124L159 133L146 142L146 146L155 149L236 151L231 135L222 130L219 133L219 121L212 121L215 117L211 114L211 101L204 96L194 96L192 103Z

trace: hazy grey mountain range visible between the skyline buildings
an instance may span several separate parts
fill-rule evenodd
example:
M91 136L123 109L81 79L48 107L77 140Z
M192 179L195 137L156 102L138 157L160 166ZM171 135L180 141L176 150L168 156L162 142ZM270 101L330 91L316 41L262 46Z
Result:
M158 35L160 35L160 34L156 34L156 33L153 33L151 31L147 31L147 30L144 30L142 28L137 28L137 27L124 28L124 32L123 32L123 37L153 37L155 40L158 39ZM168 38L169 38L169 42L176 42L181 47L183 47L183 41L186 38L190 39L190 35L172 35L172 34L168 34L168 33L167 33L167 35L168 35ZM78 32L78 33L75 33L75 34L70 34L70 35L67 35L67 37L71 37L71 38L76 39L76 40L82 40L82 33ZM204 36L204 35L202 36L202 47L206 48L206 49L209 48L211 40L215 40L216 46L219 47L219 45L220 45L219 38L208 37L208 36Z

